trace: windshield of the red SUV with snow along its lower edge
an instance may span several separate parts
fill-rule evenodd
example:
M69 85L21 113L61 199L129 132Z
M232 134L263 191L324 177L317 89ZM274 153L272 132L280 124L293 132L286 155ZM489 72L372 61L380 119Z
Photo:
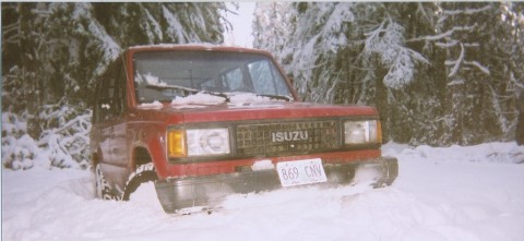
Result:
M291 94L265 56L219 51L134 53L139 103L171 101L200 92L218 96L252 93L291 100Z

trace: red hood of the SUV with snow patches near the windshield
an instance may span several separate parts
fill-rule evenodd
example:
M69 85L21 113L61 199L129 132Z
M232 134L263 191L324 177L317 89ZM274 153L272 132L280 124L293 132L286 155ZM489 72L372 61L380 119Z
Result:
M372 107L320 105L297 101L222 103L216 105L171 105L139 107L148 117L162 116L170 123L225 122L267 119L301 119L325 117L378 117ZM141 111L141 112L143 112ZM153 113L156 112L156 113Z

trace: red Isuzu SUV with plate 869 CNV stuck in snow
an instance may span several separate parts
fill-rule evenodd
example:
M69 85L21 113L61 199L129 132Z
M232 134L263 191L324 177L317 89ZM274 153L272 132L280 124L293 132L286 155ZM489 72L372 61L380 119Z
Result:
M167 213L362 170L389 185L381 143L374 108L301 103L269 52L210 45L129 48L98 82L91 133L97 196L154 181Z

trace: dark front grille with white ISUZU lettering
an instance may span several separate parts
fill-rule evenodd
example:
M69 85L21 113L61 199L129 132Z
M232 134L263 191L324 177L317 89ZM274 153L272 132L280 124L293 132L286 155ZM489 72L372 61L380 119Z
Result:
M236 148L243 156L275 156L341 148L341 123L334 120L242 124Z

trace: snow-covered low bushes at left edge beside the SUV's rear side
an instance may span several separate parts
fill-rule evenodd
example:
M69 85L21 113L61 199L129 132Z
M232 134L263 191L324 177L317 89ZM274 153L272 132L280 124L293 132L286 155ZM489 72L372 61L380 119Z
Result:
M25 117L2 113L2 166L13 170L87 168L91 117L91 111L49 106L39 117L47 120L40 122L47 130L35 140L27 134Z

